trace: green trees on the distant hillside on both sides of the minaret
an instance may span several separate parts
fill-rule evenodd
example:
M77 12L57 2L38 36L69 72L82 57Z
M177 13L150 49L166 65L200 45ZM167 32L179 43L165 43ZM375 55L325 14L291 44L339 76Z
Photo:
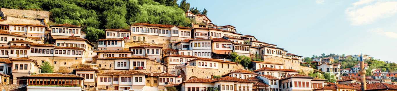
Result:
M314 59L314 58L327 58L327 57L337 57L337 56L345 57L345 54L342 54L342 55L327 54L326 55L323 53L323 54L321 54L321 56L313 55L312 57L305 57L304 62L310 63L310 61L312 61L312 59ZM335 59L334 63L338 63L338 62L341 63L340 69L351 68L358 64L357 58L352 58L352 57L347 57L346 59L342 59L342 60ZM364 61L364 63L368 64L368 66L369 66L367 73L366 73L367 76L372 74L371 69L380 69L382 71L388 71L388 72L397 71L397 64L394 62L390 62L390 61L382 61L381 59L371 58L369 60ZM315 67L315 66L312 65L312 67Z

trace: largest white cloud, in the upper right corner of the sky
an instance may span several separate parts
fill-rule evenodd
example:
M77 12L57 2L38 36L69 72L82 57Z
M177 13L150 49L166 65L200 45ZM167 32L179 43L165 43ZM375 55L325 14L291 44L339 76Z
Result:
M345 10L352 25L371 24L397 13L397 1L360 0Z

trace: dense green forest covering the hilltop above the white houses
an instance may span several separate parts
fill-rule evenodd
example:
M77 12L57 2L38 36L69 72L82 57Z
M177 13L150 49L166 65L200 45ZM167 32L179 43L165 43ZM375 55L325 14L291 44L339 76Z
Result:
M207 13L186 0L0 0L0 7L50 11L48 24L81 26L89 41L104 38L104 29L129 29L133 23L191 26L185 11Z

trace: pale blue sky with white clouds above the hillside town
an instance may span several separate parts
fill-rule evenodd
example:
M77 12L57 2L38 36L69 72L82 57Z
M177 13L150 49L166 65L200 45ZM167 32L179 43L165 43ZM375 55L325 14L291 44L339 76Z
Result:
M178 1L180 2L180 0ZM218 26L288 53L368 54L397 63L397 0L187 0Z

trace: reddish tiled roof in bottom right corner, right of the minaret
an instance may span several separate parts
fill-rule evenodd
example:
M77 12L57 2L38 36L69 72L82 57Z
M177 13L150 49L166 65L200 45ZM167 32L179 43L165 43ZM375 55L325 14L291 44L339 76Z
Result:
M383 89L387 89L387 90L396 90L397 89L397 85L386 84L386 83L367 84L366 87L367 87L366 90L374 90L374 91L383 90Z

